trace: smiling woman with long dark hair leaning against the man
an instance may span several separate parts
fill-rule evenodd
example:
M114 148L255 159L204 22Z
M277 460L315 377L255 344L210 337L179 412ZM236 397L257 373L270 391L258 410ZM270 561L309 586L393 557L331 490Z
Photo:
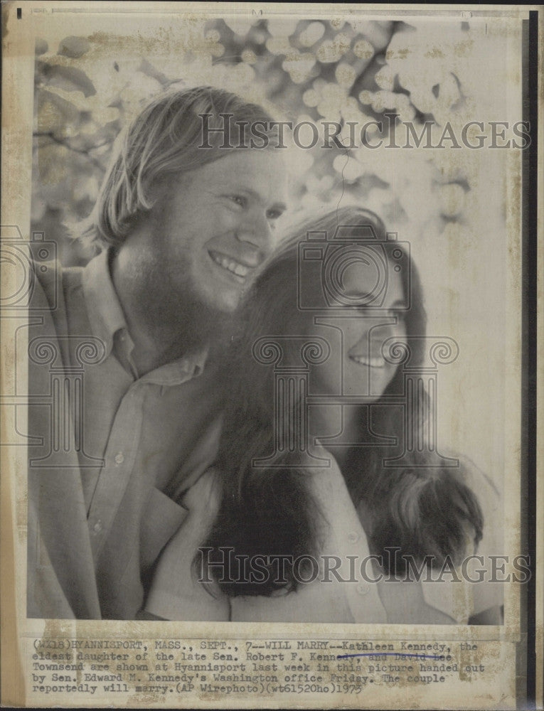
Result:
M149 612L454 621L415 570L459 565L484 516L474 470L434 447L422 378L407 400L425 324L407 246L376 215L343 208L294 228L240 310L217 456L185 493Z

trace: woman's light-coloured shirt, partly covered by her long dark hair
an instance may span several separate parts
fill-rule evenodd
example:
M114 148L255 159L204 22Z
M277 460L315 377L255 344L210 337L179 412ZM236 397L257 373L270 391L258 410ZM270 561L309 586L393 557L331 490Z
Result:
M146 600L146 611L154 616L171 620L466 624L470 616L502 603L503 585L492 582L453 582L449 575L436 582L438 576L434 574L434 582L386 582L384 575L377 584L373 581L381 571L371 559L361 572L361 561L370 556L368 540L332 457L330 468L313 470L310 480L311 493L324 514L316 579L299 585L296 592L277 597L228 598L217 590L211 596L198 582L192 564L218 510L218 476L210 469L183 499L188 516L166 546ZM484 505L488 533L479 547L482 555L489 555L498 552L492 542L497 518L489 514L496 510L498 499L489 483L485 487L485 478L476 476L478 481L473 484L479 496L489 497ZM333 557L341 561L337 575L331 572ZM350 557L356 560L353 574ZM489 559L484 565L489 569Z

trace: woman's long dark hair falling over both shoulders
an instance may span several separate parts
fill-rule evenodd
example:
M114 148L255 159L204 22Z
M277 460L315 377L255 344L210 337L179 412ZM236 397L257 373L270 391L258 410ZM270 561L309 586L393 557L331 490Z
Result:
M307 232L326 231L331 235L337 225L371 225L378 240L385 239L381 220L360 208L342 208L311 224L299 225L257 279L240 309L238 332L225 361L228 397L216 462L220 472L220 507L203 543L213 550L230 547L233 556L287 555L291 557L289 560L319 555L317 530L322 514L309 491L311 470L297 467L294 455L288 451L274 459L274 467L252 466L252 460L274 451L274 369L258 363L252 347L262 336L310 333L313 312L297 308L299 244ZM405 258L410 260L406 252ZM407 336L424 336L426 314L420 278L415 265L411 263L410 267ZM408 289L405 278L403 288L405 292ZM321 289L321 279L304 279L308 299L314 296L322 301ZM422 363L422 343L423 339L415 339L412 349L415 365ZM289 362L289 353L286 360ZM401 367L384 395L395 392L402 392ZM294 407L299 407L299 403ZM366 422L370 410L372 421ZM358 417L361 428L370 424L373 432L402 436L402 409L384 406L383 397L372 408L361 407ZM425 431L424 425L423 419L415 423L420 434ZM280 436L284 434L287 441L290 434L287 420L283 427L285 432ZM458 561L465 553L468 532L473 533L477 544L483 527L478 501L464 483L464 471L428 466L428 462L427 466L417 466L426 464L421 453L414 455L414 466L385 468L383 459L395 454L398 449L392 447L354 446L348 451L342 472L353 503L366 511L367 520L363 523L370 549L377 555L388 547L400 549L399 555L383 556L385 567L392 573L404 570L402 555L415 560L425 560L425 556L431 555L435 564L442 564L447 557L452 562ZM286 466L282 467L282 462ZM198 556L194 563L198 567ZM287 592L297 588L301 570L295 576L292 566L286 565L284 580L281 576L278 580L274 572L277 569L270 566L270 576L265 582L240 582L238 568L231 573L236 582L228 582L225 579L228 576L218 570L214 574L222 592L230 596L270 595L281 588Z

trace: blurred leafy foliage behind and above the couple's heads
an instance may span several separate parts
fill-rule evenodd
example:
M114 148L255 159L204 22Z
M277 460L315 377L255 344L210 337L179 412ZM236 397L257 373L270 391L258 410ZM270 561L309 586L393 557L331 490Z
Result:
M383 114L396 112L419 127L426 120L461 127L492 85L475 71L478 32L462 21L441 30L437 23L237 16L195 25L188 44L166 38L160 51L156 43L146 51L142 40L130 54L122 38L105 33L67 36L58 46L38 40L31 228L58 240L65 264L90 257L71 239L70 225L90 213L122 127L168 88L249 90L251 100L294 122L377 119L386 134ZM368 137L384 137L378 134L375 128ZM341 137L348 138L346 128ZM403 238L425 242L425 235L461 230L474 199L485 199L474 194L480 159L474 154L482 151L464 150L457 159L449 150L323 149L320 143L296 151L297 209L358 202Z

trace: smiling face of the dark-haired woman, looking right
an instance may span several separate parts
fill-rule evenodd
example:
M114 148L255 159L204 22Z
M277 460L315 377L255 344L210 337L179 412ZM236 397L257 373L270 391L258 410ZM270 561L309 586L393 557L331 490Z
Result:
M368 285L364 271L348 269L343 287L351 295L361 294L364 304ZM400 274L389 266L385 299L380 309L361 306L339 314L319 316L311 335L321 336L331 346L331 355L314 367L311 392L319 395L351 395L378 400L388 387L398 365L388 362L385 341L406 338L406 298ZM390 345L390 344L388 344Z

